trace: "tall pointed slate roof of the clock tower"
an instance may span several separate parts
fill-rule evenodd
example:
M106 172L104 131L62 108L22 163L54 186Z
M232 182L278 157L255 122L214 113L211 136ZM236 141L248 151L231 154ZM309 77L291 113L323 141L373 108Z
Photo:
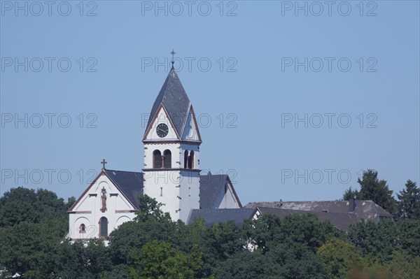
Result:
M160 104L167 110L172 124L174 124L177 133L181 137L191 103L174 69L169 71L165 83L163 83L162 89L156 97L155 103L153 103L145 134L149 131L149 126L153 124L153 119L158 112Z

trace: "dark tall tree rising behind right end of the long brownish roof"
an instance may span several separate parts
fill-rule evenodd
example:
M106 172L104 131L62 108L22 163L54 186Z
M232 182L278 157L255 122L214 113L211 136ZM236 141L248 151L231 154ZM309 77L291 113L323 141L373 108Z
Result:
M386 180L378 179L378 172L368 169L363 171L362 179L358 178L360 184L359 199L371 200L377 203L389 213L395 214L395 199L392 194L393 191L386 185Z

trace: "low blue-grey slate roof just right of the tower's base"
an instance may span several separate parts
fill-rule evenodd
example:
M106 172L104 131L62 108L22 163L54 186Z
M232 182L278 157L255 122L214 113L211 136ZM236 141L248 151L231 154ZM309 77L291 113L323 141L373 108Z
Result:
M219 209L193 209L188 216L186 224L193 224L195 218L203 217L207 227L211 227L218 222L234 221L241 225L244 220L250 219L255 208L219 208Z

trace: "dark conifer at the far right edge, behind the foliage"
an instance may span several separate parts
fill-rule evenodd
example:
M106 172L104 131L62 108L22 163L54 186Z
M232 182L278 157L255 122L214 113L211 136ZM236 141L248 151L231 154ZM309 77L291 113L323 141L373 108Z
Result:
M402 219L420 220L420 188L412 180L407 180L405 189L398 196L398 213Z

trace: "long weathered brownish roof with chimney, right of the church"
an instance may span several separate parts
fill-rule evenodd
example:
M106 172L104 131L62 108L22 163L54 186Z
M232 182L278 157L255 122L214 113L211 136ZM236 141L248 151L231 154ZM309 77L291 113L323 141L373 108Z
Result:
M356 207L351 211L349 201L265 201L251 202L246 208L283 208L325 213L350 213L364 220L379 220L381 217L393 217L391 213L378 206L373 201L356 201Z

